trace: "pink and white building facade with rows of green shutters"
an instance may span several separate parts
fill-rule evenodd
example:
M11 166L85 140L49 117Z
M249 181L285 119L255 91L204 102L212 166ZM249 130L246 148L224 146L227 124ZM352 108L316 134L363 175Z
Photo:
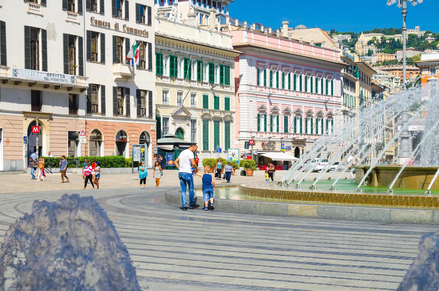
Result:
M341 126L339 51L244 27L231 33L242 52L235 61L235 147L244 152L245 141L254 139L258 154L299 157Z

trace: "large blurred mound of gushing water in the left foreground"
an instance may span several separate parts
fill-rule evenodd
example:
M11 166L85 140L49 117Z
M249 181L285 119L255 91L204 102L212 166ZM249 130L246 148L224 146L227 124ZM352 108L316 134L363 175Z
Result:
M36 201L1 243L0 290L140 290L136 269L93 197Z

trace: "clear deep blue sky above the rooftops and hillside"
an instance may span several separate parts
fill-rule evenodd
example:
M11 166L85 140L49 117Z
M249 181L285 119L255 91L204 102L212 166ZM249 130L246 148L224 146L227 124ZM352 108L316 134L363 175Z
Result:
M247 22L280 28L288 20L290 27L303 24L308 28L320 27L337 31L399 28L402 26L401 9L386 5L387 0L234 0L230 16ZM337 7L333 9L331 7ZM420 25L421 30L439 33L439 0L424 0L416 6L408 5L407 28Z

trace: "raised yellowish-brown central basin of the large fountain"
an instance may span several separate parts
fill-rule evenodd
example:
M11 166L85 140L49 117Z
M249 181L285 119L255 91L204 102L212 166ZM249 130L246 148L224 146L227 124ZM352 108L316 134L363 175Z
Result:
M375 166L369 174L367 186L389 187L398 174L402 165L379 165ZM370 166L354 166L356 182L360 183ZM394 188L427 189L438 167L406 167L399 175ZM439 189L439 179L431 188Z

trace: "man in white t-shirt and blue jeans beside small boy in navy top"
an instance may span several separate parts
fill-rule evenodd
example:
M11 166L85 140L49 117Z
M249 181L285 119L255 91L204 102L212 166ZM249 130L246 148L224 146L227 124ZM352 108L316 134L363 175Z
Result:
M197 151L198 146L191 144L189 149L185 149L180 153L180 156L175 160L174 165L179 169L178 178L180 179L181 187L181 202L182 209L187 210L186 189L189 187L189 207L197 208L200 205L195 204L194 200L194 176L192 175L192 167L194 167L194 173L198 172L197 164L195 164L194 153Z

